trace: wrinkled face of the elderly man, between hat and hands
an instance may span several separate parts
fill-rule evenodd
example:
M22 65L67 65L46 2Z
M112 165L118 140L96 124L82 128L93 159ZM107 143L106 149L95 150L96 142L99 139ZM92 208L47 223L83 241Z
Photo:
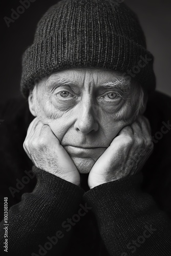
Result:
M80 173L89 173L120 130L135 119L139 87L104 69L70 69L43 79L30 110L48 124Z

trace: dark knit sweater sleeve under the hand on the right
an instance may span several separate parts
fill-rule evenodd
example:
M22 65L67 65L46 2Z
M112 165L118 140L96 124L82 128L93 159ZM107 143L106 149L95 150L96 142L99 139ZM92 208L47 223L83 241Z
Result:
M169 256L171 225L141 190L142 174L108 182L84 194L110 255Z

